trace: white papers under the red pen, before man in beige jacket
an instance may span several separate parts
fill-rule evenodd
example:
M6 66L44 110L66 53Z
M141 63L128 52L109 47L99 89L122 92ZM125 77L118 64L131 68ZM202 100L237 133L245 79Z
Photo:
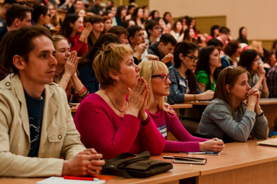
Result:
M99 180L99 179L94 180L94 181L67 180L67 179L64 179L63 177L54 177L54 176L37 182L37 184L103 184L103 183L106 183L106 181Z

